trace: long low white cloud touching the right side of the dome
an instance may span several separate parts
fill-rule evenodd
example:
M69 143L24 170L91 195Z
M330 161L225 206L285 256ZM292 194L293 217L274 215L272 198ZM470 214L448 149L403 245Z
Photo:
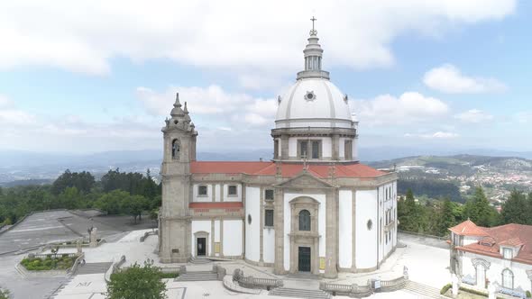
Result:
M444 102L417 92L399 97L379 95L371 100L355 100L351 106L360 122L370 125L433 121L449 112Z

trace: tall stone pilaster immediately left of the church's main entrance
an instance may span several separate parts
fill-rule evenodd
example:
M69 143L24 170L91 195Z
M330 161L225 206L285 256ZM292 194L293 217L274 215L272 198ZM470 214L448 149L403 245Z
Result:
M282 189L275 188L274 205L275 205L275 262L273 273L280 275L286 271L284 269L284 193Z

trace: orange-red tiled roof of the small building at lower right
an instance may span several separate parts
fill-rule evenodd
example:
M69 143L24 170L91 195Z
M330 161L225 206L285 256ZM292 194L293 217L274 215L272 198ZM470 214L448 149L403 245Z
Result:
M518 255L512 260L532 265L532 225L510 223L485 228L476 226L468 220L449 230L456 234L461 234L456 231L467 231L467 233L462 233L461 235L483 237L478 242L456 247L455 249L502 258L500 246L518 247ZM474 234L472 231L478 231L479 234Z

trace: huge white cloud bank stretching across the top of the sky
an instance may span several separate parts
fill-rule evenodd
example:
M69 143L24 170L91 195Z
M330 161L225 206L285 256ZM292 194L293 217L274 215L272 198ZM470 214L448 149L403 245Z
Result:
M389 66L406 32L435 36L512 14L516 0L52 1L0 5L0 68L50 66L102 75L110 60L171 59L238 73L243 86L298 70L317 12L324 65ZM274 16L274 20L272 20ZM249 74L267 75L250 77Z

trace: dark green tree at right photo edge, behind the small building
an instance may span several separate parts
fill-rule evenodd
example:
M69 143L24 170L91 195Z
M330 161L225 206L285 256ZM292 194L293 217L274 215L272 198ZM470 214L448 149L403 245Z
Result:
M514 189L510 193L509 199L502 204L502 212L500 213L502 221L504 223L532 224L530 199L530 195L527 198L527 195Z

